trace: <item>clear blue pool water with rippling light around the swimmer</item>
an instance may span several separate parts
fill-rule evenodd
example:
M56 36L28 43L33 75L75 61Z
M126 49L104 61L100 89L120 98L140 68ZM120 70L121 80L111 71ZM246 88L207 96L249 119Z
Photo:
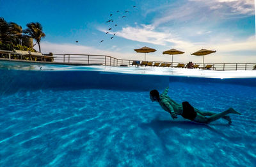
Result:
M19 68L0 69L0 166L256 164L254 77ZM172 120L148 98L150 89L166 86L177 102L242 115L230 115L232 125Z

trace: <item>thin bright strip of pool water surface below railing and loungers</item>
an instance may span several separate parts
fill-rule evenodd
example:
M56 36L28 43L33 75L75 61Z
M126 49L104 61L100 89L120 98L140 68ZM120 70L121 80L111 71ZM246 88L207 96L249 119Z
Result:
M150 76L181 76L203 78L256 78L256 70L218 71L200 68L166 68L166 67L113 67L100 64L51 63L24 60L0 60L0 69L34 70L34 71L95 71L108 74L135 74Z

